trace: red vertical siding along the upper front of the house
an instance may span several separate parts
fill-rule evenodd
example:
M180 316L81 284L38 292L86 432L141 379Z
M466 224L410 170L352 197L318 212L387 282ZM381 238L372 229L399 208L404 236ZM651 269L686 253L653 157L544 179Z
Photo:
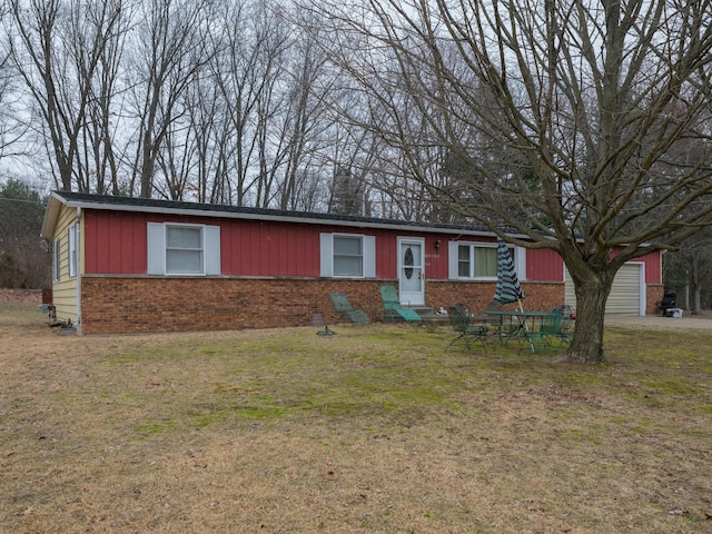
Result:
M221 273L226 276L319 277L322 233L369 235L376 238L376 277L397 278L398 237L424 237L426 279L448 278L447 234L379 228L344 228L296 222L159 216L121 211L85 211L87 274L140 275L147 269L147 224L191 222L220 226ZM439 247L435 247L436 241ZM474 240L474 239L471 239ZM483 241L492 239L484 238ZM563 264L551 250L526 251L530 281L562 281ZM660 255L646 257L646 278L660 280Z

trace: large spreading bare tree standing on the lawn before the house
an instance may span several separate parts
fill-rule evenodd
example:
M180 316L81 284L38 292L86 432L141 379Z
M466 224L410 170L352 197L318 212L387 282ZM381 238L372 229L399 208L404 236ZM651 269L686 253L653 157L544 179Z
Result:
M404 171L498 235L506 225L527 236L503 236L516 245L562 256L577 299L568 357L603 362L619 268L711 220L712 145L701 120L710 1L366 0L315 9L349 48L340 58L333 47L335 62L388 111L374 127L404 152ZM671 152L689 138L699 140L698 156L673 172ZM412 156L424 147L455 154L477 176L466 181L467 201L424 171ZM491 165L488 147L512 155L508 168Z

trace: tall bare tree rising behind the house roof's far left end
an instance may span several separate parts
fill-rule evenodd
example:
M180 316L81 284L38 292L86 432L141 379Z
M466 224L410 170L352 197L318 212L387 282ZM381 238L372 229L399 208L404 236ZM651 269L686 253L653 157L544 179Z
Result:
M118 31L121 1L11 0L11 58L42 118L63 190L89 189L80 136L92 81Z

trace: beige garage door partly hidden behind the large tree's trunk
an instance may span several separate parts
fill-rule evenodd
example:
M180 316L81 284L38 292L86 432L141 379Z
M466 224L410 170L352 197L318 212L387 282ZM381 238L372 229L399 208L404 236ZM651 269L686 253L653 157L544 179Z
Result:
M615 275L611 295L605 305L606 315L645 315L645 270L643 264L625 264ZM565 271L565 300L566 304L576 306L574 283Z

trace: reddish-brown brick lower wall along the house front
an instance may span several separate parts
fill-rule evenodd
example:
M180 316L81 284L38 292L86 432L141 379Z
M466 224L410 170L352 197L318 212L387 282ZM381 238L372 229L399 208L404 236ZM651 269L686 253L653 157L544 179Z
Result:
M305 278L82 277L82 334L128 334L306 326L314 314L336 319L328 294L345 291L350 301L378 317L384 284L396 280ZM525 307L550 309L564 301L563 284L524 284ZM494 283L428 281L427 306L463 301L482 310Z

